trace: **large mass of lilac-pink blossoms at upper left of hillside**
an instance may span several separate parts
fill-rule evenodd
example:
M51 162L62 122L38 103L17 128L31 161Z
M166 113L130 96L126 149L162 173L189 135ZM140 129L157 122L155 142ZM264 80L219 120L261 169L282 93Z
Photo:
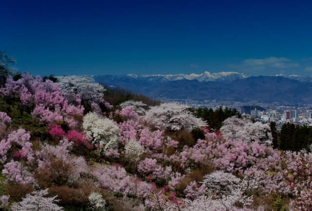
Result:
M8 78L5 86L0 88L0 95L19 99L21 114L23 106L35 106L32 115L44 124L62 121L64 118L74 128L78 123L72 116L82 115L84 111L79 94L73 94L74 103L69 105L57 83L50 80L43 82L40 76L33 78L28 73L21 74L18 81Z

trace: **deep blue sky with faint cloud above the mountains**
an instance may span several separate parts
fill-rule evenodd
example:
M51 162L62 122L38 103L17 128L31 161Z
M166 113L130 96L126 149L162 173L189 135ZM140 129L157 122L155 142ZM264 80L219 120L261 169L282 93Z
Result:
M312 1L3 0L0 50L33 75L312 75Z

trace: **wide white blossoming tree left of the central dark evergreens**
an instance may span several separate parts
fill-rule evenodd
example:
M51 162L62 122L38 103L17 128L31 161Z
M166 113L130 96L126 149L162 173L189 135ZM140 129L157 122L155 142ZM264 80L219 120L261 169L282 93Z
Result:
M150 107L146 112L147 123L156 128L165 130L192 130L196 127L206 126L201 119L196 118L189 110L188 105L178 103L163 103Z

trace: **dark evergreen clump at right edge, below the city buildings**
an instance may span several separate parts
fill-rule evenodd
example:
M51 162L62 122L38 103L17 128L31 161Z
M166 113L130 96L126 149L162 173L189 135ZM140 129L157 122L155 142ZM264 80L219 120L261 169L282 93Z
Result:
M274 123L271 123L273 135L273 147L280 150L291 150L298 152L307 150L310 152L312 144L312 128L307 126L294 125L293 123L283 124L280 133L276 133Z

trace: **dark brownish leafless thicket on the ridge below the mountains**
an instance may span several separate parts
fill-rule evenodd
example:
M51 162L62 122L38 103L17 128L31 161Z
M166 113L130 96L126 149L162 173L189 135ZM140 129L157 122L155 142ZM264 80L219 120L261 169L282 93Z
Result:
M158 99L152 99L145 95L128 91L124 88L109 87L106 84L104 84L103 86L106 89L103 99L110 103L110 105L119 105L122 102L129 100L142 101L148 106L159 105L161 103L161 101Z

